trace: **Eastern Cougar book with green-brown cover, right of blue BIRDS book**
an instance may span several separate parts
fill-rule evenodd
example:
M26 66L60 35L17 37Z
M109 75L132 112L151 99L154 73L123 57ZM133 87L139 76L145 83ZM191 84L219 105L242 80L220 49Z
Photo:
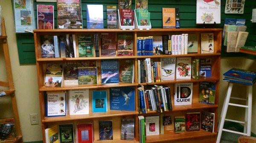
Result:
M134 83L134 61L120 61L119 80Z

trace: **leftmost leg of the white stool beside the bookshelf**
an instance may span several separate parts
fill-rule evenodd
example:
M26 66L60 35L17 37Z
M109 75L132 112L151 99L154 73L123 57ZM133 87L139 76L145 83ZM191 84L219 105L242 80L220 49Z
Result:
M227 87L226 100L223 104L223 109L222 109L223 112L222 112L222 115L221 115L221 122L220 122L219 129L218 129L218 136L217 136L216 143L220 143L220 141L221 141L222 129L223 129L223 126L224 126L224 121L225 121L226 115L227 115L227 107L228 107L228 103L230 101L232 87L233 87L233 83L229 82L228 87Z

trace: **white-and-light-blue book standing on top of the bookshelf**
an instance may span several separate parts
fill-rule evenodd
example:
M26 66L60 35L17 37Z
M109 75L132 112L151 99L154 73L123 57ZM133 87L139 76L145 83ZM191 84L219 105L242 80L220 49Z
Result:
M86 5L87 29L103 29L103 5Z

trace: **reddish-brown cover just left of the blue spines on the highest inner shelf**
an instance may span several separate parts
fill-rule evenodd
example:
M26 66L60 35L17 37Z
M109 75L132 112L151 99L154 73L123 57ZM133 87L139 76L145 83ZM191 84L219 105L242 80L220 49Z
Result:
M133 56L133 34L117 35L118 56Z

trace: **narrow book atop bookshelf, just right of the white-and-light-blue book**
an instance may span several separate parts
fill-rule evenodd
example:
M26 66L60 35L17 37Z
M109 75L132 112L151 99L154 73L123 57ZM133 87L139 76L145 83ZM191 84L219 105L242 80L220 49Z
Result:
M117 28L116 6L107 6L107 27L108 29Z

